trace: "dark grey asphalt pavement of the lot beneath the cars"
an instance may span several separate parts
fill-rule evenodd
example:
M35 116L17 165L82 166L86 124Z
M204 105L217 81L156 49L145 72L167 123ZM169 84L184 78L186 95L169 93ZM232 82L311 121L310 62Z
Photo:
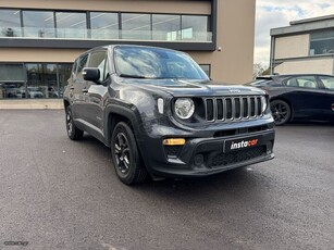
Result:
M277 127L274 150L128 187L109 148L67 139L63 111L0 110L0 249L334 249L334 126Z

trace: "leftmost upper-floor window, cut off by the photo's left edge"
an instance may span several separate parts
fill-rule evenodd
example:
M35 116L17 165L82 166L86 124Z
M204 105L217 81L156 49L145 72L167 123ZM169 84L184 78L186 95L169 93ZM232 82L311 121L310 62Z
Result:
M20 10L0 10L0 36L21 37Z

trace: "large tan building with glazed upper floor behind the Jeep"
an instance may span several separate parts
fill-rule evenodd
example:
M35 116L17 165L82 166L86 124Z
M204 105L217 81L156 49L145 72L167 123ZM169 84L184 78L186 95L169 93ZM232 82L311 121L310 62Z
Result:
M186 51L213 79L248 82L255 8L256 0L1 0L0 109L38 100L50 108L74 59L109 43Z

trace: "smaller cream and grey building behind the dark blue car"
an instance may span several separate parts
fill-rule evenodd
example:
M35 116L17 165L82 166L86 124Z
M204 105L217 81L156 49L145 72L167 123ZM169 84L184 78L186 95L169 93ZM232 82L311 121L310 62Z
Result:
M334 15L290 22L270 35L271 73L334 74Z

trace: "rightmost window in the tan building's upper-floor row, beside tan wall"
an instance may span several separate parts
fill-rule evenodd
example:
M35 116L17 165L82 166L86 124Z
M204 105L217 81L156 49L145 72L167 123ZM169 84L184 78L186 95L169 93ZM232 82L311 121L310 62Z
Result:
M182 39L183 40L209 40L209 16L183 15Z

